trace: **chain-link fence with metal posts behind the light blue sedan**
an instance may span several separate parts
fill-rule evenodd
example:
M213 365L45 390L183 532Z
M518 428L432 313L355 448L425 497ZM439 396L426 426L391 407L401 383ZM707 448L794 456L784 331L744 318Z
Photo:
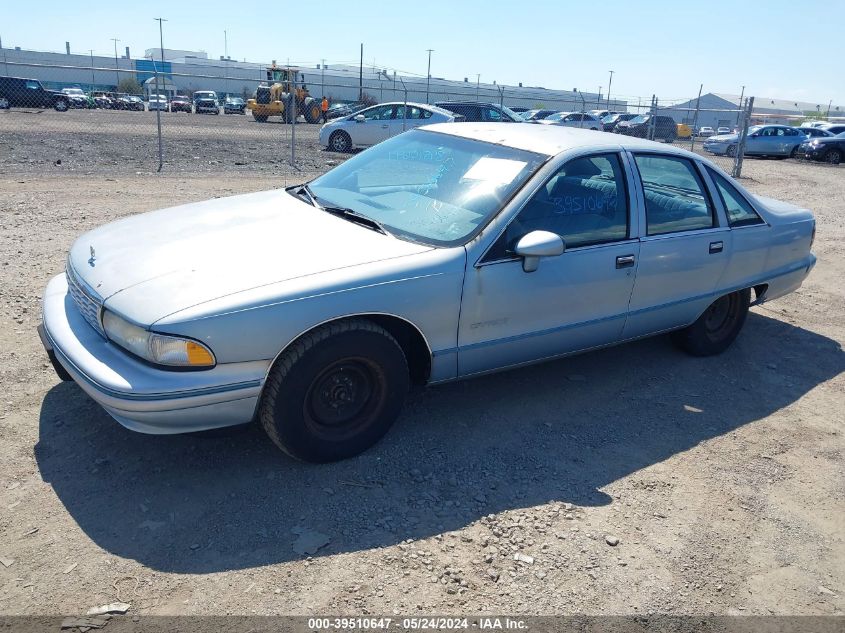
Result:
M577 90L473 85L387 71L370 72L366 80L363 73L327 77L320 70L308 71L306 80L298 70L275 65L250 71L251 76L229 74L225 66L222 73L215 67L186 74L174 71L177 64L141 61L141 71L117 64L5 62L0 168L6 173L45 166L81 173L314 173L348 156L320 143L325 120L378 103L461 101L497 106L474 111L483 120L510 116L508 108L541 111L537 116L570 113L556 115L558 124L671 142L739 176L753 108L753 99L735 110L716 111L679 107L657 97L634 103ZM61 85L62 90L51 89ZM602 119L608 112L610 117ZM736 145L721 155L706 149L707 138L717 131L737 135Z

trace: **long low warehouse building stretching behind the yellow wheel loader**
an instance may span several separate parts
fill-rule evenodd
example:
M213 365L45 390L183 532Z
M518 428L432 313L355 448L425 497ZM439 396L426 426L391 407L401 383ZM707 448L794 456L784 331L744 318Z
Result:
M148 80L167 81L167 93L173 91L190 94L196 90L214 90L221 95L251 97L256 86L266 80L270 63L238 61L220 57L209 59L204 51L186 51L151 48L141 58L132 58L125 48L115 57L93 54L75 54L66 44L66 53L0 48L2 74L40 80L53 89L78 87L85 91L114 91L120 80L134 78L149 94ZM272 63L272 62L271 62ZM279 63L280 66L286 65ZM296 66L296 62L292 62ZM577 89L555 90L541 86L502 86L496 82L482 82L478 77L450 80L432 77L426 85L425 77L397 75L384 68L329 64L325 67L311 64L299 65L305 82L315 97L326 95L332 102L349 102L359 98L363 91L376 101L445 101L479 100L503 103L525 108L551 108L556 110L591 110L608 106L607 98L595 92ZM153 88L154 90L154 88ZM164 91L163 91L164 92ZM625 110L624 101L611 100L610 109Z

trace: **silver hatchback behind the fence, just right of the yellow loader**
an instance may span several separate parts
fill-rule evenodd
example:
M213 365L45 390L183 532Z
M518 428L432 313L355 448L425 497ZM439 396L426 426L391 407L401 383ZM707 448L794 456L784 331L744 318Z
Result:
M406 130L431 123L453 123L457 114L422 103L381 103L329 121L320 128L320 145L333 152L369 147Z

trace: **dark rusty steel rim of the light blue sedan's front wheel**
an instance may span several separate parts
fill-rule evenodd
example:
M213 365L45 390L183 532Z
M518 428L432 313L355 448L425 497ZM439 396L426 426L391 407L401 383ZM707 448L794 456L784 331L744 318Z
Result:
M383 376L375 363L344 358L311 381L305 395L305 420L316 435L344 440L376 419L385 395Z

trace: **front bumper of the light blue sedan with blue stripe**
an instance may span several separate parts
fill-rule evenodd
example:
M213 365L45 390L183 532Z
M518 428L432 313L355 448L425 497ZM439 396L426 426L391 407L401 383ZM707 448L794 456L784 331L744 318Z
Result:
M74 380L126 428L161 435L253 419L271 361L225 363L207 371L144 363L85 321L68 294L64 274L47 285L42 308L39 334L59 377Z

